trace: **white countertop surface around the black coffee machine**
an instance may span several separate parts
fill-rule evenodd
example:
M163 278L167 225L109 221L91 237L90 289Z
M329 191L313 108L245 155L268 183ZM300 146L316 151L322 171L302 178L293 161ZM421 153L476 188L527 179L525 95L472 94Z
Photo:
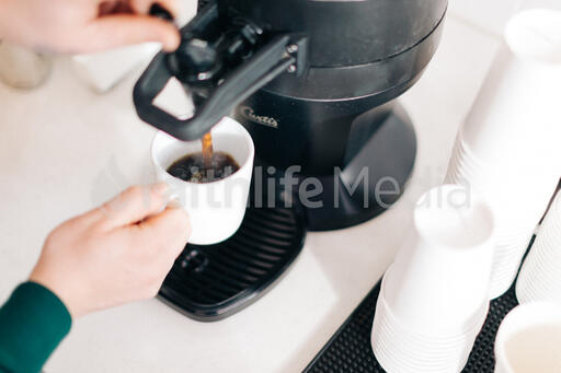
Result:
M309 234L284 280L222 322L197 323L157 300L79 319L46 372L300 372L389 266L416 198L442 182L499 43L448 18L434 61L402 98L417 130L419 159L390 211L353 229ZM154 130L134 113L134 81L98 95L59 60L39 90L0 85L0 302L25 280L51 229L130 184L150 182Z

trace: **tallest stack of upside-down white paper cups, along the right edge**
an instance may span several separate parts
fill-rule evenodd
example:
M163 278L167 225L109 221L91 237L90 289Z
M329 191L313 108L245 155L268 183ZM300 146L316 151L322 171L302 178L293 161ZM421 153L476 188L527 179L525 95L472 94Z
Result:
M482 194L496 218L490 298L512 285L561 175L561 12L533 10L506 42L458 132L447 183Z

